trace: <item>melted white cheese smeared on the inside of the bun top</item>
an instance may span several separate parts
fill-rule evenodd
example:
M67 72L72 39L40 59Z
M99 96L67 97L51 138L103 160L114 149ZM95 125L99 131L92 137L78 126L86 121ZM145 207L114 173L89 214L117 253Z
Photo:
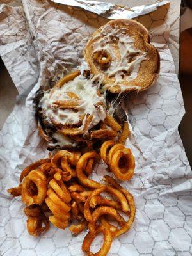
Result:
M118 85L123 81L136 79L141 62L147 60L145 52L134 48L135 40L127 34L126 28L114 29L112 27L106 27L100 33L100 36L93 38L95 41L93 52L106 50L111 54L112 59L109 67L102 72L108 77L114 78L115 84ZM115 40L114 43L113 40ZM122 90L124 90L123 84Z

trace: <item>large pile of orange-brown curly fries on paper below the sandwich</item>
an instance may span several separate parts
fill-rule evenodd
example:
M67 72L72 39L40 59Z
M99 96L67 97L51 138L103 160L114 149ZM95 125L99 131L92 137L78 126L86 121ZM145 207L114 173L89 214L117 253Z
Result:
M115 156L116 152L124 150L124 145L114 145L114 141L106 141L106 145L102 156L111 166L108 147L113 149L116 146L112 150ZM112 177L104 177L106 184L88 178L93 163L99 159L95 151L80 153L60 150L24 169L20 175L22 184L8 189L8 192L13 196L21 195L22 202L28 205L24 212L28 217L27 228L31 236L40 236L49 229L49 223L61 229L70 225L69 229L74 236L88 228L89 232L82 245L83 252L93 255L90 252L92 241L97 234L103 233L104 244L97 255L105 256L113 239L131 228L135 216L131 193ZM113 156L111 161L114 161ZM101 195L103 192L111 198L104 198ZM127 221L120 212L127 215ZM109 217L118 223L117 227L109 223ZM78 223L72 223L73 220Z

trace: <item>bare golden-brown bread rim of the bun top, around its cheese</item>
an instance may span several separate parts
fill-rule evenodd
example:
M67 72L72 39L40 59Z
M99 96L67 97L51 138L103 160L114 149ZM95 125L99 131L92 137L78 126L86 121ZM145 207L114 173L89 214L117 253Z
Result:
M109 77L105 70L102 70L99 65L97 65L97 62L95 62L93 59L93 44L98 40L98 38L104 36L102 35L103 29L108 31L108 29L111 30L111 28L125 29L125 33L134 38L134 49L145 52L146 58L145 60L141 61L136 78L132 79L131 81L126 81L126 77L124 77L124 80L121 83L115 83L115 77ZM118 56L118 44L114 45L114 42L111 44L113 44L113 48L115 49L114 55ZM110 90L112 93L129 92L132 90L146 90L149 86L152 86L155 83L157 77L159 76L159 53L157 52L156 47L150 44L147 29L135 20L116 19L97 29L86 45L86 49L84 50L84 58L93 74L104 74L103 84L107 84L108 90ZM123 84L124 90L122 90L121 84Z

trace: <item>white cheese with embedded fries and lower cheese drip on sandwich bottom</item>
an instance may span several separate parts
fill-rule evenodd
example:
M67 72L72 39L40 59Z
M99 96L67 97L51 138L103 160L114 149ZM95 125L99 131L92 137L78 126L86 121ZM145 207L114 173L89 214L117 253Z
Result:
M88 126L86 127L88 131L103 121L107 115L106 100L97 90L99 84L94 84L94 81L95 77L86 79L83 75L79 75L60 88L54 86L51 90L45 91L39 102L45 119L58 131L72 127L84 129L85 125ZM89 122L87 122L88 118ZM75 141L58 131L52 134L52 138L60 147L75 146Z

